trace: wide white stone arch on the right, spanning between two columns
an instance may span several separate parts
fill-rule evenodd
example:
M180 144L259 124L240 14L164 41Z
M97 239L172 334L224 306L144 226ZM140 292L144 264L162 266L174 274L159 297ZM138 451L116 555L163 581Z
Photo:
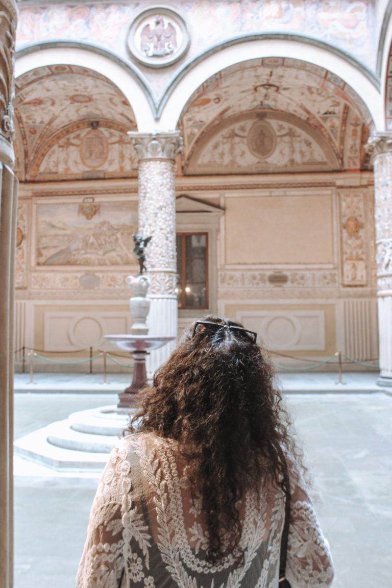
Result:
M284 41L284 42L282 42ZM185 64L168 83L161 98L158 126L175 128L193 93L222 69L251 59L292 58L328 69L346 83L370 112L374 128L383 128L383 108L377 77L353 56L300 35L245 35L215 46Z

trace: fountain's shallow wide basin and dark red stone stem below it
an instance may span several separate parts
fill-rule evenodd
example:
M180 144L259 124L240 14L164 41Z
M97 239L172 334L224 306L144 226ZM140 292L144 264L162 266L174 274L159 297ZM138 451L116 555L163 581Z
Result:
M139 400L139 390L147 382L146 355L173 341L174 337L154 335L105 335L106 341L133 354L133 376L130 386L119 394L118 408L130 408Z

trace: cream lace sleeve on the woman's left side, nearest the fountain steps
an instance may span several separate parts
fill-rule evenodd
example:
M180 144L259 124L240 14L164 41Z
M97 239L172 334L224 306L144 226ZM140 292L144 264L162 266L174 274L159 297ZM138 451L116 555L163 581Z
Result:
M89 517L76 588L119 588L124 576L122 497L124 462L115 447L100 479Z

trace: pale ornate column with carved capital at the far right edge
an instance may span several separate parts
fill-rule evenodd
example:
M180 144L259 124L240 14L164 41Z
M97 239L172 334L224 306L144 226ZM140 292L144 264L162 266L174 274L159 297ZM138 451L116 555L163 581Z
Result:
M374 162L374 216L380 370L378 383L392 386L392 132L378 132L368 141Z

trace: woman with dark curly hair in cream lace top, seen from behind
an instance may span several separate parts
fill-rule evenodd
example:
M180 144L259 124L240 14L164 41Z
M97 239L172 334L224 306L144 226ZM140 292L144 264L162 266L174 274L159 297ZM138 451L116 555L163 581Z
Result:
M100 480L78 588L327 588L333 579L256 333L196 322Z

